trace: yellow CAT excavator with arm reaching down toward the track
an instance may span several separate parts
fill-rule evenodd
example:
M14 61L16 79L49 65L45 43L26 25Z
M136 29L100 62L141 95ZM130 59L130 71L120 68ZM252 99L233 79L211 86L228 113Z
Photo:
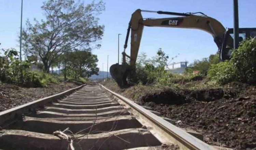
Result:
M141 12L175 15L181 17L172 18L143 18ZM199 14L199 15L198 15ZM113 64L110 67L110 74L117 82L119 87L127 86L127 76L135 69L135 64L140 47L142 31L144 26L148 27L170 27L170 28L189 28L199 29L210 33L213 36L219 51L219 59L221 61L228 60L231 57L233 49L233 38L231 34L233 29L226 30L224 26L216 19L205 15L202 12L196 13L176 13L164 11L148 11L136 10L132 15L128 25L124 51L122 52L122 64ZM131 30L131 50L130 56L126 54L127 42ZM244 34L245 37L256 36L256 28L240 28L239 33ZM241 37L240 37L241 38ZM126 62L126 57L130 59L130 64Z

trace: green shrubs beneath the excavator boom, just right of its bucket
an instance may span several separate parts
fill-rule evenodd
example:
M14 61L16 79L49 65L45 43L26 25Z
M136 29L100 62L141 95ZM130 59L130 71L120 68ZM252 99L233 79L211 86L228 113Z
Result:
M136 69L129 75L128 79L134 83L155 84L161 86L170 86L177 82L189 80L187 76L175 75L167 70L168 56L162 49L157 51L157 55L151 60L146 59L146 54L142 53L138 56ZM173 59L173 58L172 58Z

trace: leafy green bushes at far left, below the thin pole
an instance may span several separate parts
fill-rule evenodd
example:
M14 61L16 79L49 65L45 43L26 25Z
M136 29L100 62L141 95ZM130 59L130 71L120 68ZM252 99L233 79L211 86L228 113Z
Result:
M44 87L48 82L57 82L51 75L43 72L31 72L31 63L20 61L15 49L7 49L5 57L0 57L0 80L24 87Z

